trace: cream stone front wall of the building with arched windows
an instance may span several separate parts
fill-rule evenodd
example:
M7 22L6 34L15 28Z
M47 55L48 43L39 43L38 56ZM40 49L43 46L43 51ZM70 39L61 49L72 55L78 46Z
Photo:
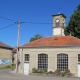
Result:
M20 49L20 61L22 73L24 73L24 54L30 55L29 71L32 68L38 68L38 54L48 54L48 71L55 71L57 69L57 54L68 54L68 68L75 75L78 76L78 54L79 47L64 47L64 48L23 48Z

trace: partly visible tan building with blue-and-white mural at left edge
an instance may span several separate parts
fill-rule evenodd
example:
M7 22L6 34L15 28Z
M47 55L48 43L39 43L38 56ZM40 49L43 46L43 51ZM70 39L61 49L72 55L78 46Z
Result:
M12 64L12 47L0 42L0 66Z

